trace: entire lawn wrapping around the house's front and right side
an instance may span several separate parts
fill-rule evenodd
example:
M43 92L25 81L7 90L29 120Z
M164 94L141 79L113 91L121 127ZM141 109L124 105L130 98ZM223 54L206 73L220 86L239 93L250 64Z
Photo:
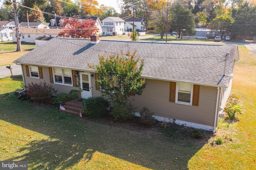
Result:
M0 161L26 160L28 169L256 168L256 56L239 46L232 92L242 96L243 115L220 119L205 140L166 137L60 113L58 107L20 102L14 90L22 77L0 79ZM138 128L135 128L138 129ZM222 138L222 145L210 145Z

